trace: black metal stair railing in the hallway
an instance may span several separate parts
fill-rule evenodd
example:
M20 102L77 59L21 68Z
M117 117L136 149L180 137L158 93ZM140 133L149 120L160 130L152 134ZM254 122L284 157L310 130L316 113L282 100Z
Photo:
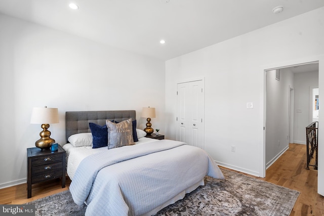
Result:
M306 127L306 146L307 146L307 167L314 166L317 169L318 162L318 121L314 121ZM315 154L315 160L314 159ZM312 164L310 164L312 163Z

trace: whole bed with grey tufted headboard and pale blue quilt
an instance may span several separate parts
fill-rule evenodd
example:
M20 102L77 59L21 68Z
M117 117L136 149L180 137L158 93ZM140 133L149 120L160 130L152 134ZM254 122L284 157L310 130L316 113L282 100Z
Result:
M224 178L204 150L145 138L145 132L136 128L134 110L66 112L65 120L69 190L76 204L88 205L86 215L154 215L204 185L206 175ZM94 124L107 126L107 146L93 148ZM113 128L123 124L132 128L125 133L132 133L134 142L111 148L114 141L125 140L124 134L113 136Z

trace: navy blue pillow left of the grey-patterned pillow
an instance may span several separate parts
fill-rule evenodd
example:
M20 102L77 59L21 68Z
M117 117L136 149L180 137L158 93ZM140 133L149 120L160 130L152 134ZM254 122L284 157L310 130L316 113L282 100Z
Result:
M107 125L100 126L95 123L89 123L92 133L93 149L108 146Z

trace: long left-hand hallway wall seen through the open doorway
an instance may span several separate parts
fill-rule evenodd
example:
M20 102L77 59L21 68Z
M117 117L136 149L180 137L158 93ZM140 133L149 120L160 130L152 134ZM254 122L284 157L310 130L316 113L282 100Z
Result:
M294 74L282 68L279 81L275 76L276 70L266 72L266 167L289 148L289 94L294 88Z

